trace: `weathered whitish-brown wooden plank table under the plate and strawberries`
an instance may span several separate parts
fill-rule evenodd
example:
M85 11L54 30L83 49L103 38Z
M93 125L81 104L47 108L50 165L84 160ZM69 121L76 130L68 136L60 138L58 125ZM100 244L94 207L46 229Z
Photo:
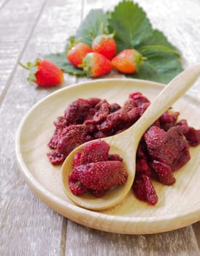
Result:
M183 66L200 59L200 1L140 0L153 26L180 49ZM93 230L57 214L29 189L15 157L21 118L39 99L60 89L38 89L26 80L26 63L39 53L63 50L92 8L112 0L0 0L0 255L200 255L200 222L152 235ZM64 86L81 79L65 75ZM200 87L193 87L200 99ZM187 202L185 202L187 203Z

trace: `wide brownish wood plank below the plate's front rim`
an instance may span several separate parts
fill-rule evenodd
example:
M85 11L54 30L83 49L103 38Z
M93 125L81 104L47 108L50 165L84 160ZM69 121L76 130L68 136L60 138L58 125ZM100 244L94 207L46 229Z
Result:
M93 230L69 221L67 233L66 255L199 255L191 228L131 236Z

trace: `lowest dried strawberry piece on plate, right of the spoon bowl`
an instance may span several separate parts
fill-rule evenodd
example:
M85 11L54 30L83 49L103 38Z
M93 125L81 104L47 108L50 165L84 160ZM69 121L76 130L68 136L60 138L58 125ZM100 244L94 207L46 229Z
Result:
M134 178L133 189L139 200L145 200L152 206L158 202L158 196L150 178L147 175L142 174L140 176L136 176Z

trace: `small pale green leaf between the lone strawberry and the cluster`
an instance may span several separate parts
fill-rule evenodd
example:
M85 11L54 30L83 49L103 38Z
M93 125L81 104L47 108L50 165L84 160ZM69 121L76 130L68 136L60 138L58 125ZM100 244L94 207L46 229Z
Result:
M76 69L67 59L66 53L50 53L44 57L49 61L52 61L57 65L63 72L69 73L70 75L85 76L86 73L82 69Z

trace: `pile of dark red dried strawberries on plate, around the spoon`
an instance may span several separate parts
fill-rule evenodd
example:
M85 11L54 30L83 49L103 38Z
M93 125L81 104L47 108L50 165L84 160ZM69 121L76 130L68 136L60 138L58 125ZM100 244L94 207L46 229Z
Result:
M106 99L75 100L66 108L64 116L54 122L55 132L48 143L53 149L47 153L50 162L59 165L80 144L122 132L134 124L149 105L149 99L140 92L130 94L123 107L109 104ZM190 159L189 146L200 143L200 129L189 127L185 119L177 121L178 116L178 112L167 110L147 129L139 143L133 189L137 198L150 205L158 201L151 180L168 186L174 184L174 171Z

